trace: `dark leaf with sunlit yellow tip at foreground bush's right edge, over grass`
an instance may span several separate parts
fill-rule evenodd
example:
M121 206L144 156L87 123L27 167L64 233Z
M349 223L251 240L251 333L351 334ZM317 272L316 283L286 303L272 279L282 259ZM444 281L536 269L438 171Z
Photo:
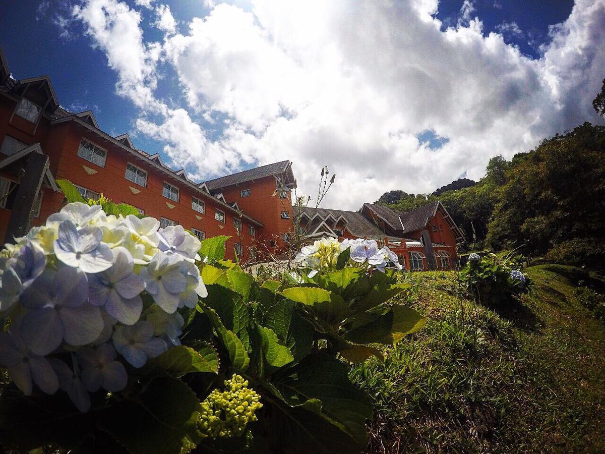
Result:
M376 320L347 331L344 338L358 344L391 344L419 331L425 323L427 319L414 309L397 304Z

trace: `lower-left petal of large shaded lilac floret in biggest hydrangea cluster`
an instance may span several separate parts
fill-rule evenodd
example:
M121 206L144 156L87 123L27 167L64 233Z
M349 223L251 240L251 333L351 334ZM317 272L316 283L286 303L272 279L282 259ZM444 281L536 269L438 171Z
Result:
M25 345L40 356L56 350L64 336L63 324L53 308L36 309L25 314L20 331Z

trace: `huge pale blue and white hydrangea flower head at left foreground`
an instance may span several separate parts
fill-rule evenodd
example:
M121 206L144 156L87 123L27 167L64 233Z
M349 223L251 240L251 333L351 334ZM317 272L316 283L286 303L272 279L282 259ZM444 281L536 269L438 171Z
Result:
M85 412L89 392L124 389L125 363L142 367L180 344L177 309L208 295L195 266L201 244L182 226L159 227L74 202L5 245L0 320L11 323L0 366L25 395L33 384L62 389Z

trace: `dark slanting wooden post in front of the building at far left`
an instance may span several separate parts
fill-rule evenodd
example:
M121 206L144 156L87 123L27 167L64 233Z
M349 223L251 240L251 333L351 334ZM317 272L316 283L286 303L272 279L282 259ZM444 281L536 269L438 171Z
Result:
M38 200L44 174L48 169L48 156L31 153L25 165L25 175L19 183L15 203L10 213L4 242L13 242L13 238L24 236L31 227L34 216L34 203Z

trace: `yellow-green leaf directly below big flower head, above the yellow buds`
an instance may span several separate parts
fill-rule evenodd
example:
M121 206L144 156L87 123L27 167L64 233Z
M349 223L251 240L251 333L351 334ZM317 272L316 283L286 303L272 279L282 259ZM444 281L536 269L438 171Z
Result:
M158 369L166 370L174 377L181 377L191 372L218 373L219 362L217 350L209 345L202 346L198 351L180 345L147 361L143 373Z

